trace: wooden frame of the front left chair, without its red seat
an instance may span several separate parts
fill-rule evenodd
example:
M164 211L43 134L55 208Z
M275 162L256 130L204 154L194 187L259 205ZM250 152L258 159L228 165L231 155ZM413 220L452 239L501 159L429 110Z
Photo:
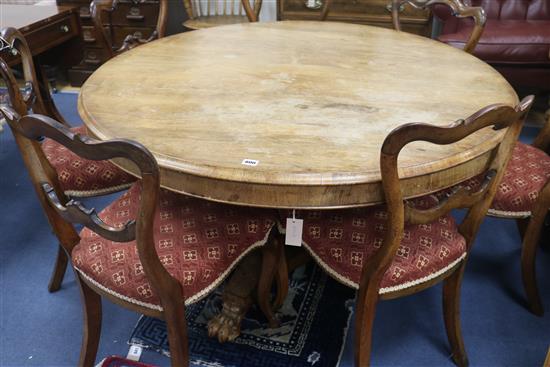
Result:
M4 63L0 59L0 66L2 64ZM162 265L154 242L153 223L160 196L160 172L154 156L137 142L126 139L98 141L75 134L66 126L44 115L34 114L21 117L11 107L0 107L0 112L7 120L15 140L21 148L23 160L28 168L35 191L66 256L69 258L74 247L80 243L80 236L73 224L83 225L110 241L130 242L135 240L145 276L160 299L161 308L153 309L115 297L73 268L80 287L84 310L79 366L93 367L95 365L101 334L101 297L132 311L165 320L168 329L171 365L173 367L188 366L189 350L184 289L180 282L172 277ZM57 173L40 146L39 140L44 137L58 142L88 160L118 158L134 163L141 177L139 216L121 227L112 227L103 222L94 209L87 209L82 203L66 197L61 189ZM282 244L272 235L262 248L262 271L258 287L260 290L265 288L264 292L267 292L273 282L282 249ZM264 311L271 324L276 324L272 311L269 309L268 300L260 304L260 309Z

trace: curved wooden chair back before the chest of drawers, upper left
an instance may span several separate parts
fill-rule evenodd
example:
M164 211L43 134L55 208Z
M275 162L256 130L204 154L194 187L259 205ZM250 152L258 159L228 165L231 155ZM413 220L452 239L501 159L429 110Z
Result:
M141 39L134 35L128 35L120 48L115 49L112 37L103 26L103 17L116 11L119 0L93 0L90 3L90 15L94 23L97 40L109 54L109 58L115 57L121 52L132 49L141 44L162 38L166 35L166 24L168 22L168 0L159 0L159 15L157 25L151 36L147 39Z

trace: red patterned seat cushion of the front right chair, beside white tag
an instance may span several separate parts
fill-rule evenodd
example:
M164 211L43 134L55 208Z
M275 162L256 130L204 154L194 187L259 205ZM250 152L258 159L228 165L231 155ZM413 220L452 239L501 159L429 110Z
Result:
M416 201L420 207L425 202ZM382 245L387 212L384 207L307 211L303 245L340 282L359 288L362 266ZM466 241L450 215L430 224L406 225L401 246L386 271L380 293L421 284L466 256Z

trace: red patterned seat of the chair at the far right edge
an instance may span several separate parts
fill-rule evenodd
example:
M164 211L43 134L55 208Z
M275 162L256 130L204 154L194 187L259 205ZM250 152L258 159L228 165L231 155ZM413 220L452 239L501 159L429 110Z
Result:
M488 214L495 217L529 217L548 178L550 157L542 150L517 142ZM463 185L475 190L481 180L482 176L478 176Z

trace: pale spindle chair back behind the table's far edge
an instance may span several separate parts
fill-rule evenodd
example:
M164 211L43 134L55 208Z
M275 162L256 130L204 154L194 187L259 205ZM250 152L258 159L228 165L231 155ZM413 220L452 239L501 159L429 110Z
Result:
M262 0L183 0L189 18L208 16L244 16L257 22Z

